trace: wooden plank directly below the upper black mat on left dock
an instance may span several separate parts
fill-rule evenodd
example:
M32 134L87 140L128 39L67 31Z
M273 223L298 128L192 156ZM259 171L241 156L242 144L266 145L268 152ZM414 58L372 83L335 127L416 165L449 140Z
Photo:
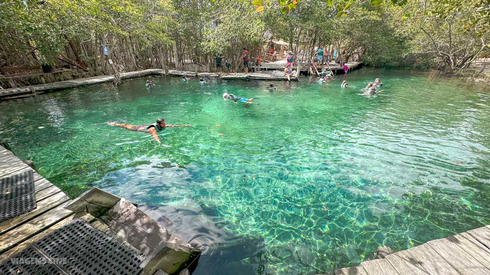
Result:
M38 201L36 202L36 209L32 210L31 212L27 212L20 216L0 222L0 235L19 227L23 223L32 220L33 218L42 215L68 201L70 201L70 198L63 192L54 194L45 200Z

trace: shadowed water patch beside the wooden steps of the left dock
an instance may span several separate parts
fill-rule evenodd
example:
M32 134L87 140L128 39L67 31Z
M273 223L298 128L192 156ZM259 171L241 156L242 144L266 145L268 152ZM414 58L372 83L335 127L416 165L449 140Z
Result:
M264 240L240 238L224 230L212 209L161 205L139 205L138 208L172 234L202 249L193 275L263 274L266 260Z

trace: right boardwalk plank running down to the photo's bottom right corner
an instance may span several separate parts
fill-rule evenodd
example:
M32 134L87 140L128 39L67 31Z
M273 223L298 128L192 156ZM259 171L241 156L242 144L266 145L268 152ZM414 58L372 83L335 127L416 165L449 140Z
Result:
M447 238L430 241L430 245L442 258L446 260L460 274L490 275L490 270L467 254L456 243Z

